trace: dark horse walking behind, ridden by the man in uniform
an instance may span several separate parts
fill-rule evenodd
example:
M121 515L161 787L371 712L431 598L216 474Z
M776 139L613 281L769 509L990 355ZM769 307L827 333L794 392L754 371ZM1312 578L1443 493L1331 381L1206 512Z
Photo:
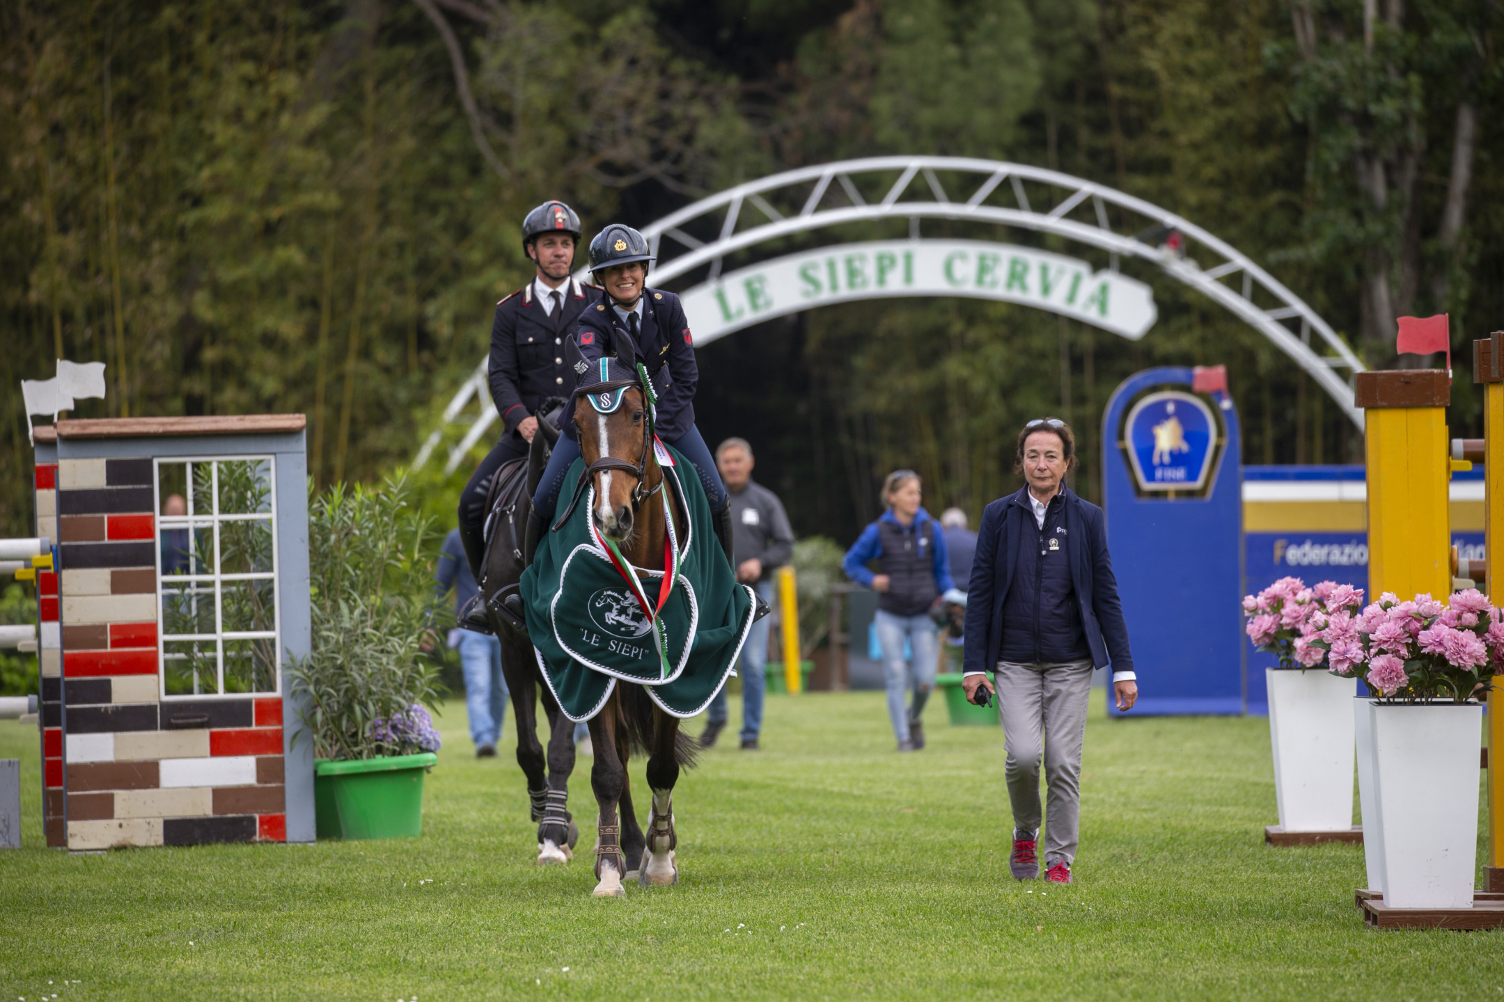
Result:
M562 864L575 856L579 829L569 813L569 777L575 771L575 724L543 684L528 629L520 619L520 604L513 599L525 566L523 526L532 505L532 491L547 463L549 449L558 442L558 415L567 407L562 400L546 401L540 407L538 433L526 461L514 460L492 481L486 511L487 544L481 566L480 589L486 598L492 628L501 641L501 673L511 690L511 709L517 730L517 765L528 778L532 820L538 822L538 862ZM531 554L528 554L531 556ZM537 706L549 721L547 754L538 742Z

